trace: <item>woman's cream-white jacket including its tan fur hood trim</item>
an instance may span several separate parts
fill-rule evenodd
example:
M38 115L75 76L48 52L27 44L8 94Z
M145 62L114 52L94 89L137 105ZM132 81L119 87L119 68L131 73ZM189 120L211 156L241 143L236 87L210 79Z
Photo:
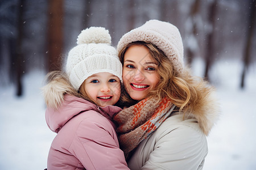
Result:
M212 95L210 95L212 96ZM203 169L208 154L207 135L218 118L218 103L205 97L187 118L172 113L134 150L130 169Z

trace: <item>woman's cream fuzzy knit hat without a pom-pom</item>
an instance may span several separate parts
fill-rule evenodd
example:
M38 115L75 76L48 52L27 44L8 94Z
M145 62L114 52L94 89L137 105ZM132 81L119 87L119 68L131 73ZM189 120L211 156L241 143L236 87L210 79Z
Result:
M117 51L134 41L147 41L156 45L170 59L177 73L184 68L183 43L179 29L171 23L149 20L141 27L127 32L119 40Z

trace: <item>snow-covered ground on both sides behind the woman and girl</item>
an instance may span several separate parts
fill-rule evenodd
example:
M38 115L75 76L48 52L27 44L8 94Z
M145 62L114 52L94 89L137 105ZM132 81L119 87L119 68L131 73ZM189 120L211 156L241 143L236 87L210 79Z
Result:
M192 66L195 74L201 75L200 59ZM245 90L239 88L241 67L240 61L219 61L210 73L220 99L221 116L208 137L206 170L256 169L256 66L249 69ZM0 87L0 169L47 167L55 133L44 119L45 105L40 94L43 79L40 71L24 76L24 95L19 98L13 86Z

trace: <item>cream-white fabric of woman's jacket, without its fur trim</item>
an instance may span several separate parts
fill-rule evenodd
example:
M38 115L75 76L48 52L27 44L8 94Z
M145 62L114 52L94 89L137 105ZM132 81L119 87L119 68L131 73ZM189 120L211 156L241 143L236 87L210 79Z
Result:
M182 115L175 115L141 142L128 165L130 169L200 169L207 153L207 139L195 118L183 121Z

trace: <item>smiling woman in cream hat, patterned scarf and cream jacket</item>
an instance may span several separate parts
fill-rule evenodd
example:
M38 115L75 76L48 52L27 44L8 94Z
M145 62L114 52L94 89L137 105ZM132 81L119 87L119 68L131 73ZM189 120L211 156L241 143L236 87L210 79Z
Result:
M218 106L213 88L189 73L172 24L150 20L123 35L123 111L115 115L130 169L202 169Z

